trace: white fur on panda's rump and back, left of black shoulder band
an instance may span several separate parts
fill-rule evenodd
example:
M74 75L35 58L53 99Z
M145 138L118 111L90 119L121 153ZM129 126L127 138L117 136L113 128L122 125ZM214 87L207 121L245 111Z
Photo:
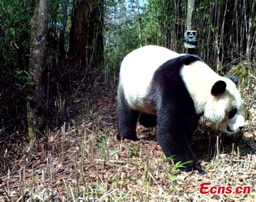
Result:
M120 68L119 85L122 86L130 107L143 112L154 72L167 60L179 56L180 54L167 48L149 45L132 51L124 58ZM153 109L149 108L145 109L145 112L151 111L151 114L154 114Z

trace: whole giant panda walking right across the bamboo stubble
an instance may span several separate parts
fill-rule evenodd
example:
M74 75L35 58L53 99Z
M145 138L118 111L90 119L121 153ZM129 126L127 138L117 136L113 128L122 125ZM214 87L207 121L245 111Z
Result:
M216 74L196 55L144 46L126 55L119 74L117 123L120 140L138 140L136 124L157 124L157 141L184 171L199 170L189 141L201 115L226 133L244 128L235 76Z

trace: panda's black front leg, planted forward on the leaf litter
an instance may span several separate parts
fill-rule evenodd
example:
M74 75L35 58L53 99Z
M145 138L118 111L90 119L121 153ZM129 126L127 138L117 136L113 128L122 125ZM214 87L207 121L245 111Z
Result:
M182 120L177 112L166 112L158 113L158 131L157 140L158 143L163 148L164 154L167 157L173 156L174 163L177 162L190 162L186 164L186 168L180 168L183 171L199 170L199 172L204 173L203 170L197 168L196 159L194 158L193 152L187 140L187 136L190 134L187 130L186 121Z

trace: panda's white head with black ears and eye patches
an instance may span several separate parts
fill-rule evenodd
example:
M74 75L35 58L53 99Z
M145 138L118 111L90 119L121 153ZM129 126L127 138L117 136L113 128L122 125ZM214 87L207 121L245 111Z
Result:
M216 123L218 128L226 133L235 133L245 126L242 116L242 100L235 86L238 79L220 77L211 87L211 94L207 96L204 116Z

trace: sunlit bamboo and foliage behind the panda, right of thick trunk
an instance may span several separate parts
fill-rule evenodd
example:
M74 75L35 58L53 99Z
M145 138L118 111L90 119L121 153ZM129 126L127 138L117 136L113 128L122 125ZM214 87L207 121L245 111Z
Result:
M118 72L124 55L140 46L186 52L187 1L138 2L105 1L105 55L112 72ZM255 61L253 1L198 0L194 24L199 56L214 70L221 69L220 74L243 60Z

